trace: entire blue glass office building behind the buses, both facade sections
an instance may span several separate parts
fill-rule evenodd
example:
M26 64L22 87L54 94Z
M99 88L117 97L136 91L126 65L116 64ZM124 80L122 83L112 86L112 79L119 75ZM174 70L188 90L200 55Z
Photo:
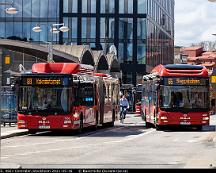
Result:
M0 37L31 42L51 41L49 26L64 22L59 44L117 48L123 83L137 84L158 64L173 63L174 0L14 0L19 13L0 6ZM41 24L42 32L32 28Z

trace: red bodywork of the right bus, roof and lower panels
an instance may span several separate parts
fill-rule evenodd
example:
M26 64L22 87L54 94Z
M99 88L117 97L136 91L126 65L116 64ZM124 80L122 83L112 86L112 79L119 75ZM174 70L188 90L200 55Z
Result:
M201 77L208 78L208 71L203 66L202 69L181 70L167 69L164 65L156 66L151 74L157 74L159 77ZM144 86L145 87L145 86ZM159 97L158 97L159 98ZM141 111L146 114L146 122L155 125L209 125L209 112L166 112L160 110L159 107L149 103L149 98L143 97ZM157 112L157 114L155 113Z

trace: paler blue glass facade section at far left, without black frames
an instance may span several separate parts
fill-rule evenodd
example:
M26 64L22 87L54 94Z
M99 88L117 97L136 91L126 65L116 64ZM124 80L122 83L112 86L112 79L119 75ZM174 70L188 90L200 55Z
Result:
M50 25L59 23L60 0L13 0L19 12L15 15L6 14L5 6L0 6L0 38L22 41L51 41ZM40 24L41 33L32 28ZM54 36L54 41L59 37Z

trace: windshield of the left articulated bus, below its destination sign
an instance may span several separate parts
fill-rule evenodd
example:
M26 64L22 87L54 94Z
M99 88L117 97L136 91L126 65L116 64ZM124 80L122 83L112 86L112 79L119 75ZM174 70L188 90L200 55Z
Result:
M27 113L70 112L69 88L20 87L18 111Z

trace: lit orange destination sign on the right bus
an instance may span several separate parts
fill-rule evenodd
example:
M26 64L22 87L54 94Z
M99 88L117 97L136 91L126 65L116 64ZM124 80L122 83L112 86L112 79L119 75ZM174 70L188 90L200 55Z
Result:
M165 85L206 85L206 79L203 78L165 78Z

